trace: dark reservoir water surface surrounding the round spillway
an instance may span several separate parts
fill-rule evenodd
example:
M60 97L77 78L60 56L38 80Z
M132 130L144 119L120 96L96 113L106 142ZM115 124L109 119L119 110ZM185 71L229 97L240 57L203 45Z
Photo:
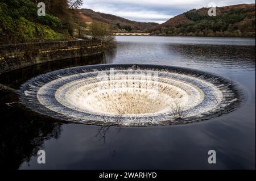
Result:
M102 58L102 57L94 57ZM102 60L103 61L103 60ZM246 100L236 111L188 125L102 128L46 120L17 108L0 109L0 163L11 169L255 169L255 39L117 37L107 63L183 66L228 77L241 84ZM75 61L86 65L99 61ZM0 78L17 88L40 65ZM41 72L43 73L43 72ZM2 99L9 99L8 95ZM2 105L1 105L2 106ZM46 151L46 164L37 151ZM216 150L217 164L208 163Z

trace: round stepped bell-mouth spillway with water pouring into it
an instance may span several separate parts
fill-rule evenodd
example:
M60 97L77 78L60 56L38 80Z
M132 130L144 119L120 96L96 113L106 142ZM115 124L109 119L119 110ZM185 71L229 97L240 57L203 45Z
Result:
M233 81L199 70L106 64L52 71L25 82L20 102L44 116L94 125L172 125L233 111Z

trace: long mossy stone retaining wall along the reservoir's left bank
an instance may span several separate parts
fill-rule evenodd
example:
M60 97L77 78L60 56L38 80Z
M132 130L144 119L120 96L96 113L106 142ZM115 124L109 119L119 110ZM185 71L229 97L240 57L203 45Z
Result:
M26 66L101 54L101 40L0 45L0 74Z

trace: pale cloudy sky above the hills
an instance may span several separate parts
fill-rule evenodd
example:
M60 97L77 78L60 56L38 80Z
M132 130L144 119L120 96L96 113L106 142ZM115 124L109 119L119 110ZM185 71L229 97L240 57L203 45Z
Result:
M255 3L255 0L84 0L82 8L140 22L163 23L185 11L209 7L212 2L216 6L226 6Z

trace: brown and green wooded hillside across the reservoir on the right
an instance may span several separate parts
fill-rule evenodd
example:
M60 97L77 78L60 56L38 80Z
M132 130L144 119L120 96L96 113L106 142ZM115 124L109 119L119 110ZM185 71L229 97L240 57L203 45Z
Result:
M207 8L191 10L151 29L155 35L255 37L255 4L217 7L217 16Z

